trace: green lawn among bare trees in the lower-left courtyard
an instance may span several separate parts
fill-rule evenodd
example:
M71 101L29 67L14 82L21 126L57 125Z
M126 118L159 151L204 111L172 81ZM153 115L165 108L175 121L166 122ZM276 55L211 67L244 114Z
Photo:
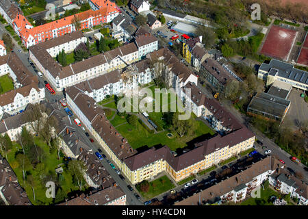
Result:
M57 151L54 151L53 153L49 153L49 146L42 142L42 140L36 138L35 139L36 146L40 146L40 148L43 149L45 153L45 159L43 160L44 166L46 167L46 170L44 170L44 174L55 174L55 168L57 168L60 164L64 163L63 157L60 157L60 159L57 159ZM8 162L10 166L13 168L17 178L18 183L25 189L27 192L27 196L29 197L30 201L34 205L51 205L53 203L53 198L47 198L46 197L46 190L45 183L42 182L42 180L39 179L40 174L38 173L38 170L36 168L31 168L31 170L28 170L26 175L32 175L34 177L34 192L36 199L34 200L33 191L31 188L31 185L27 182L27 179L25 183L23 182L23 172L21 167L18 165L18 162L16 161L16 153L22 151L22 148L19 144L14 143L14 146L12 147L11 151L8 153ZM70 175L70 173L67 171L67 168L65 166L62 166L64 168L64 172L62 173L62 177L58 178L58 185L61 186L62 190L66 192L73 192L76 190L79 190L78 186L73 183L73 177ZM83 190L86 188L84 187Z

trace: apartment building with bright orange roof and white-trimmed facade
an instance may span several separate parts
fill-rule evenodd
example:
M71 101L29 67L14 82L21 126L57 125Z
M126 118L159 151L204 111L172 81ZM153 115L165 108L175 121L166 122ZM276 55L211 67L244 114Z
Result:
M118 15L115 6L107 5L100 10L87 10L79 14L67 16L57 21L33 27L27 18L17 14L12 23L14 31L21 37L25 47L29 48L40 42L45 42L59 36L76 31L74 21L79 20L79 29L88 29L103 23L110 23Z

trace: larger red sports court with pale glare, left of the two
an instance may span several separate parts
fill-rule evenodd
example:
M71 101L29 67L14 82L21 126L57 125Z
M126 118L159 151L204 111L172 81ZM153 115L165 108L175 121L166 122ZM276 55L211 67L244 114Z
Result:
M261 49L261 54L287 60L292 50L297 32L273 25Z

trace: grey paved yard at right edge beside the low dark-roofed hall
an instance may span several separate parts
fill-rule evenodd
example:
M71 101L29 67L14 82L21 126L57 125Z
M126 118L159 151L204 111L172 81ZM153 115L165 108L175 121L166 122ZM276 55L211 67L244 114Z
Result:
M300 94L303 94L303 90L292 88L290 95L287 98L291 101L290 109L283 120L283 124L294 130L298 130L300 122L308 120L308 103L305 102Z

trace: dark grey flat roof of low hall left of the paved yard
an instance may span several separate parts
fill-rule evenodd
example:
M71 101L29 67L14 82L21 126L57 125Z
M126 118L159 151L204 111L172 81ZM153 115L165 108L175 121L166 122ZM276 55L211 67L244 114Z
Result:
M290 103L290 101L278 96L260 92L253 97L248 105L248 110L282 118Z

